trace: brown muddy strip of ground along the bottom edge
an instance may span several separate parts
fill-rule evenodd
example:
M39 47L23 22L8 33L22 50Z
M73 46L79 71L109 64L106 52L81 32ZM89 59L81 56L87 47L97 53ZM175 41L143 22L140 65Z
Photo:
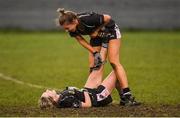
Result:
M180 105L140 105L123 107L111 104L93 108L52 108L0 106L0 116L62 116L62 117L180 117Z

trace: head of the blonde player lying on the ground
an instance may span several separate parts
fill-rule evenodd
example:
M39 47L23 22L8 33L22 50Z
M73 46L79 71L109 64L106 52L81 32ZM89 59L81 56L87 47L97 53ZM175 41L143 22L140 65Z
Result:
M53 108L57 104L57 96L55 90L49 90L47 89L45 92L42 93L40 99L39 99L39 106L41 109L44 108Z

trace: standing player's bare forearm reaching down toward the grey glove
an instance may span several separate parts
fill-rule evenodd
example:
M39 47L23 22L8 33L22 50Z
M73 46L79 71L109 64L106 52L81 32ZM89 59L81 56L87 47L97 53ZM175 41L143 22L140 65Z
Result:
M96 50L82 37L82 36L76 36L76 40L86 49L88 49L91 53L95 53Z

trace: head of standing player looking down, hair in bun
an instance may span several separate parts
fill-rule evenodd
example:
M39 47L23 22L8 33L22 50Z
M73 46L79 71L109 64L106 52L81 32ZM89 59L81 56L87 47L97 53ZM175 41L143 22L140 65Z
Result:
M67 31L74 32L78 25L77 14L72 11L65 11L64 9L57 9L60 13L58 23Z

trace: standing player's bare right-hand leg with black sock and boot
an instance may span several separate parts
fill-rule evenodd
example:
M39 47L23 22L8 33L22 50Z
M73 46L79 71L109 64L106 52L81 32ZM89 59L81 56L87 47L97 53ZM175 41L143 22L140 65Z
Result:
M126 76L126 72L123 66L119 62L119 49L120 49L121 40L120 39L112 39L109 41L108 45L108 57L111 63L111 66L115 72L117 79L120 82L121 86L121 102L120 105L124 106L135 106L140 105L139 102L136 102L134 97L132 97L130 89L128 87L128 80Z

